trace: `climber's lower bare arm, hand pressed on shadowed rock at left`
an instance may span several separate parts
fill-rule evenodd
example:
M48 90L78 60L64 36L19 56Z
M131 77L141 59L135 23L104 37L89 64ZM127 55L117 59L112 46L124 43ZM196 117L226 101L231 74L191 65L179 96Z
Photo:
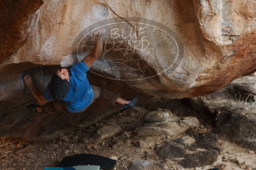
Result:
M37 101L40 104L44 105L45 103L49 102L49 101L45 100L42 93L35 88L30 75L26 74L24 76L23 80L28 85L29 89L31 90L31 92L33 93L33 95L35 96L35 98L37 99Z

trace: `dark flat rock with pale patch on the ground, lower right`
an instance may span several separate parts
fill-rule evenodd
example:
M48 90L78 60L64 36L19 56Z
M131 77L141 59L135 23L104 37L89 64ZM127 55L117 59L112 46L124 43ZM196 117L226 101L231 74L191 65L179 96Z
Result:
M187 135L157 146L157 154L162 159L178 160L184 168L201 167L217 159L220 152L217 142L213 133Z

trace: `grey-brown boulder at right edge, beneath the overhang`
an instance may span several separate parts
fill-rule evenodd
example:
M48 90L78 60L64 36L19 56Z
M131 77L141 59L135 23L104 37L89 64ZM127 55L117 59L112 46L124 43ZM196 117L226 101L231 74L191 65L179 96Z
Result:
M216 133L256 151L256 77L245 76L208 96L191 98L195 108L216 115Z

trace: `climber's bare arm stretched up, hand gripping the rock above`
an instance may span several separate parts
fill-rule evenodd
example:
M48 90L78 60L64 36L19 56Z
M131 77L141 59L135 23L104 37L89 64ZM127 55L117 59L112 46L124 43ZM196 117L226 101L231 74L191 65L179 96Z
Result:
M87 55L83 61L86 64L86 66L88 68L90 68L92 66L92 64L94 63L94 61L96 61L102 52L102 33L99 34L95 34L93 33L93 38L95 39L95 45L92 49L92 53L90 53L89 55Z

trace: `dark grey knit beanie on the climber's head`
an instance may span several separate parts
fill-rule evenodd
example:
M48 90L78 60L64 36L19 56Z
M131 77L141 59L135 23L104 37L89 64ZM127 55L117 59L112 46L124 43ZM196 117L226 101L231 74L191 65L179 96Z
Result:
M65 98L69 88L70 84L67 80L52 77L50 82L50 95L54 100L61 100Z

